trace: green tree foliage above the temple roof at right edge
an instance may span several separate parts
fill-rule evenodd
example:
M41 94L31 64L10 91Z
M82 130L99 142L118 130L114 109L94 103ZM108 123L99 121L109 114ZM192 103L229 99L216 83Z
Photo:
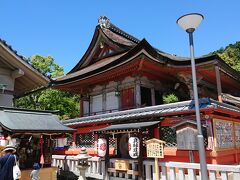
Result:
M240 71L240 42L229 44L225 48L220 48L211 54L219 55L229 66Z

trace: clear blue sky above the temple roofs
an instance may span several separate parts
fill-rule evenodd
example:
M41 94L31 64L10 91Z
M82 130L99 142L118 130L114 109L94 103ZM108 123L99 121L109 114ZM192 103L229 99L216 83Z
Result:
M1 0L0 38L29 57L51 55L65 73L81 59L99 16L167 53L189 56L188 36L176 20L205 19L194 33L201 56L240 40L240 1L229 0Z

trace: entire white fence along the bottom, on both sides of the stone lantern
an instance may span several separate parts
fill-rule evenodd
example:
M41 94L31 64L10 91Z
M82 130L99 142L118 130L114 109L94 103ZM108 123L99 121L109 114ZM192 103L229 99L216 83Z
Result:
M134 160L129 160L129 171L115 171L114 161L110 160L108 169L110 179L137 179L137 164ZM86 177L95 179L104 179L105 164L99 157L89 159L88 171ZM74 156L53 155L52 166L62 167L65 170L70 170L79 175L77 169L77 160ZM155 167L153 160L143 161L144 171L143 176L146 180L155 180ZM182 162L159 162L160 179L161 180L198 180L201 179L200 165L197 163L182 163ZM240 165L207 165L209 180L240 180Z

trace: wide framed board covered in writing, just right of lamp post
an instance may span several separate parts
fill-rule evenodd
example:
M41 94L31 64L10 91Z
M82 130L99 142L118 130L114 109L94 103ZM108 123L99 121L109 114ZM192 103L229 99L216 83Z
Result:
M234 126L232 121L213 119L214 144L216 149L234 148Z

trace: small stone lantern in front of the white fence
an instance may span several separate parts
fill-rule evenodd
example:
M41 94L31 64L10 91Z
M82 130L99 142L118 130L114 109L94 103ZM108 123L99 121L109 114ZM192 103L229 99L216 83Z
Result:
M78 180L86 180L86 170L89 168L88 159L92 158L87 154L86 148L81 148L80 153L75 157L78 160L78 166L80 175Z

